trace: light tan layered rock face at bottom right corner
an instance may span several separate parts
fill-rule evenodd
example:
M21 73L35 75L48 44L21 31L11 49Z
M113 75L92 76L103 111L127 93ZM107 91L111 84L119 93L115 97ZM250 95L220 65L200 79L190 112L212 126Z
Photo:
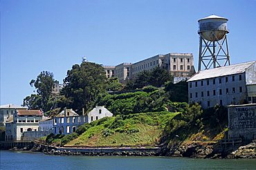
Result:
M256 158L256 142L239 147L228 155L228 158Z

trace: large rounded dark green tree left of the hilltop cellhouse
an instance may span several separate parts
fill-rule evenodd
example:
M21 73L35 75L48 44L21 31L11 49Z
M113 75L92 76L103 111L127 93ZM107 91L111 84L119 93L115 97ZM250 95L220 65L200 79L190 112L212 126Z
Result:
M72 69L67 71L63 93L70 101L71 108L78 111L82 108L89 110L102 93L106 92L105 83L106 76L102 66L83 62L81 65L73 65Z

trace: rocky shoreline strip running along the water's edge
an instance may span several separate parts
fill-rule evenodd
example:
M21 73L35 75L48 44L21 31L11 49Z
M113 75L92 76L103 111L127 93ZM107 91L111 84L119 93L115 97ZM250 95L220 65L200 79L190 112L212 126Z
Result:
M65 148L34 144L32 147L13 148L15 151L35 151L48 155L89 155L89 156L171 156L187 158L250 158L256 159L256 140L245 146L221 145L200 142L183 142L172 147L145 148Z

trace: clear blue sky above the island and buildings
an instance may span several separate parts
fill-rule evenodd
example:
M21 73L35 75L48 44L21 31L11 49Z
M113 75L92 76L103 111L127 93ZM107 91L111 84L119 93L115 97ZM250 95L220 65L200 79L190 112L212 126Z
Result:
M117 65L193 53L198 19L226 17L231 64L256 59L256 0L0 0L1 105L22 104L43 70L59 82L73 64Z

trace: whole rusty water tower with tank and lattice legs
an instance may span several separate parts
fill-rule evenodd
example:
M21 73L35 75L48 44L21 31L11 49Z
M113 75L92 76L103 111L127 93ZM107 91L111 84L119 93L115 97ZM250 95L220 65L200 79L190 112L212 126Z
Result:
M227 21L216 15L199 19L199 70L230 65Z

